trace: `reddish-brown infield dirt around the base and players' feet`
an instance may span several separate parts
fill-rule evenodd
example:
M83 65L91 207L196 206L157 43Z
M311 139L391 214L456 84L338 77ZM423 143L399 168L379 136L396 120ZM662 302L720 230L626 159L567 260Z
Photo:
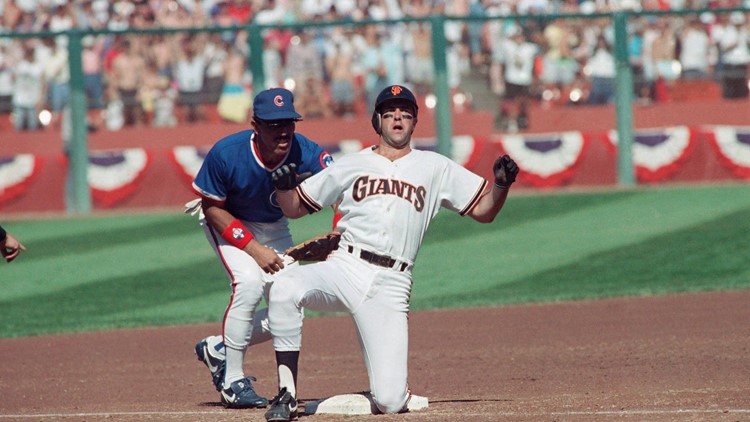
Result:
M263 421L228 410L194 354L218 324L0 339L0 421ZM303 421L747 421L750 290L410 316L409 383L429 408ZM275 394L270 343L248 351ZM368 389L352 323L308 318L300 399Z

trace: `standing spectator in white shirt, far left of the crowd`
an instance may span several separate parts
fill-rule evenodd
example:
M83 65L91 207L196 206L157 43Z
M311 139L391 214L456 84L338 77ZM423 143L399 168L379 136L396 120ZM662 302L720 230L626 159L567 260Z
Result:
M17 131L37 130L47 95L44 67L35 57L32 41L25 40L22 49L23 57L13 72L13 126Z

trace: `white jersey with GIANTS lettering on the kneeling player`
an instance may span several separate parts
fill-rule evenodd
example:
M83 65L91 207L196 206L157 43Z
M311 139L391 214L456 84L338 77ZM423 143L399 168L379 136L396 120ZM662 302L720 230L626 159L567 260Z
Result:
M466 215L487 181L435 152L412 150L391 161L372 148L348 154L297 188L319 211L341 200L341 243L414 262L441 207Z

